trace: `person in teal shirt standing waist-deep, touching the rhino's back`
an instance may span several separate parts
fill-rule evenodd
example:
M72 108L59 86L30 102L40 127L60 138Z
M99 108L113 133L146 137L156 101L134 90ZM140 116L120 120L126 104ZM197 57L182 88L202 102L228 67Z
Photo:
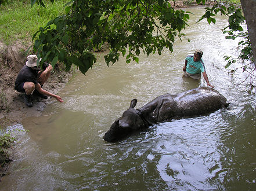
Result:
M202 56L203 56L203 52L201 52L201 50L196 50L194 52L194 56L189 55L188 57L185 58L185 66L183 67L183 76L199 80L201 78L201 73L202 73L205 81L207 82L207 85L210 87L213 87L212 85L210 85L207 74L205 72L204 61L202 59Z

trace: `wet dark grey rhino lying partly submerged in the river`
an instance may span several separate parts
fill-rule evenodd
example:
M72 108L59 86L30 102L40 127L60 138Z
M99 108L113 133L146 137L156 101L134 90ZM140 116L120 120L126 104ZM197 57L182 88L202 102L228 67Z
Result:
M174 117L203 115L229 105L219 91L210 87L197 87L179 94L167 93L139 109L134 109L136 104L136 99L131 101L127 111L104 134L104 141L116 142L155 123Z

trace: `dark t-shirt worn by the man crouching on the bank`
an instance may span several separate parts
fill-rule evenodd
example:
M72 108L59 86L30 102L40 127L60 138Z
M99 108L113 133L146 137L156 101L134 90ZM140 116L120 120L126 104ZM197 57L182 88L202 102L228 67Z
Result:
M48 65L49 65L48 63L43 63L42 65L43 70L45 70L48 67ZM24 67L21 68L15 80L15 89L17 89L17 86L19 86L20 83L24 83L24 82L33 82L36 85L38 83L37 81L38 72L39 70L35 70L35 69L32 69L31 67L28 67L27 65L24 65Z

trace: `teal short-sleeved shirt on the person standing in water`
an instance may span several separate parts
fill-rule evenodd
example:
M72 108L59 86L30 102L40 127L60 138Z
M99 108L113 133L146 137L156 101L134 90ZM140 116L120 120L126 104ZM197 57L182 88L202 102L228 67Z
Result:
M185 60L188 60L186 72L189 72L189 74L199 74L204 72L205 68L202 58L198 62L194 62L193 57L193 55L189 55L185 58Z

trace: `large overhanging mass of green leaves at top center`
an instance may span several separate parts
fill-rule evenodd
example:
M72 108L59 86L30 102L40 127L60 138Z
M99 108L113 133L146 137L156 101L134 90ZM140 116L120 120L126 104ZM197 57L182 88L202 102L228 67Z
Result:
M42 0L31 1L42 4ZM126 62L139 62L143 52L158 53L164 47L172 52L175 36L188 25L189 13L174 10L166 0L74 0L66 4L66 15L49 21L34 34L34 51L53 67L63 62L68 71L72 64L85 74L95 63L92 50L108 43L107 65L115 63L120 53ZM38 35L38 39L37 39ZM41 64L40 63L40 64Z

